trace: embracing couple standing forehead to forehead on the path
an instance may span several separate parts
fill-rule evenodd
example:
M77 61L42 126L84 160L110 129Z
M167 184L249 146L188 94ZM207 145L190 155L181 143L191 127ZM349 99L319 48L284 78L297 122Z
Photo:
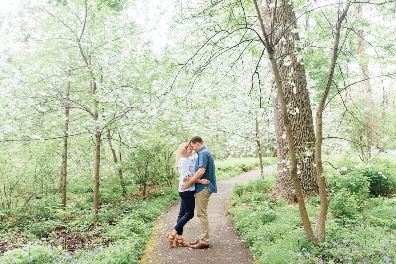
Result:
M198 156L192 157L194 150ZM182 143L176 156L175 169L179 172L180 213L173 231L168 232L168 244L204 249L209 247L209 196L217 192L215 162L210 151L204 146L201 137L194 136L189 143ZM195 197L194 197L195 195ZM183 227L194 217L195 203L197 217L200 220L200 237L196 242L186 243L183 239Z

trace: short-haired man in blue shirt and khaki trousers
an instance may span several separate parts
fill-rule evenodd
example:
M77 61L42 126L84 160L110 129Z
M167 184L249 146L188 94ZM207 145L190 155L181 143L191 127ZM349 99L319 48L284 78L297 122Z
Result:
M201 233L196 242L190 243L193 249L204 249L209 247L209 219L208 219L208 201L213 192L217 192L215 161L210 151L204 146L201 137L194 136L190 140L191 148L198 154L195 162L194 176L181 185L181 189L187 189L193 182L198 179L210 180L208 185L195 183L195 202L197 206L197 217L199 218Z

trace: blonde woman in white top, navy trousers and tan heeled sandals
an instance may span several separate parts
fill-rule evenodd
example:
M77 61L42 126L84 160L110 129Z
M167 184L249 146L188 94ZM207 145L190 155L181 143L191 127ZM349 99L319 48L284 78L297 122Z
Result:
M190 177L195 174L195 161L198 156L193 158L189 158L191 156L191 147L187 142L182 143L179 146L179 150L177 151L176 163L175 163L175 171L177 171L180 175L179 177L179 196L181 198L180 204L180 213L177 218L177 224L173 231L169 231L166 234L168 237L169 246L173 247L173 241L176 240L176 246L190 246L183 239L183 227L189 220L194 217L194 209L195 209L195 183L191 184L186 190L181 190L180 185L184 183L184 180L189 180ZM196 182L202 184L209 184L210 180L202 179L197 180Z

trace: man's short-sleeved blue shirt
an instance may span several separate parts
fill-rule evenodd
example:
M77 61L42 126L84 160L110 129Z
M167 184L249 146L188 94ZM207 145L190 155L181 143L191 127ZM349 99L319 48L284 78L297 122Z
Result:
M210 180L210 183L208 185L205 185L196 182L195 193L198 194L198 192L204 190L205 187L209 188L210 192L217 192L215 161L213 160L212 154L205 147L202 147L197 153L198 153L198 159L195 162L195 171L198 171L200 167L204 167L206 170L204 175L202 175L202 177L200 178L200 180L207 179Z

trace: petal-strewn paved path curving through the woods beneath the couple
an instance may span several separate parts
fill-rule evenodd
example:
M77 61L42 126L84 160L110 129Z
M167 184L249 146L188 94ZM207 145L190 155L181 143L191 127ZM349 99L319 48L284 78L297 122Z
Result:
M273 167L265 167L264 173ZM189 247L169 247L165 234L173 230L179 215L180 199L158 218L152 239L147 243L141 263L213 263L213 264L248 264L253 263L247 245L241 241L231 220L225 213L227 197L232 193L235 182L246 182L260 176L260 170L217 182L217 194L209 198L209 249L191 249ZM196 241L200 234L199 219L194 216L184 227L183 238L188 243Z

